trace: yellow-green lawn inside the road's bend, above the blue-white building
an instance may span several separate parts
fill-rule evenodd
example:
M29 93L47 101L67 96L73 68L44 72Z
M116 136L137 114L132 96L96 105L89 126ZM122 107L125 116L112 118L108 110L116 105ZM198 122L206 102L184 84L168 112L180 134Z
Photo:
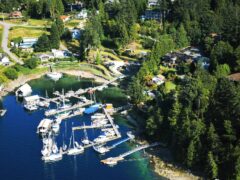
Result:
M43 33L48 33L44 28L14 27L9 33L9 40L18 37L39 37Z

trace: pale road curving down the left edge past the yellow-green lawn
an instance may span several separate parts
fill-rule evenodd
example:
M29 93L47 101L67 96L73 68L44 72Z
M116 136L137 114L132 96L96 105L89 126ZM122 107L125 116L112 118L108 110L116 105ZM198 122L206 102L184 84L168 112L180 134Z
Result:
M8 56L14 60L16 63L23 64L23 61L19 59L15 54L13 54L10 51L10 48L8 48L8 34L9 34L9 29L15 25L13 24L8 24L5 22L0 21L0 24L3 26L3 37L2 37L2 49L3 51L8 54Z

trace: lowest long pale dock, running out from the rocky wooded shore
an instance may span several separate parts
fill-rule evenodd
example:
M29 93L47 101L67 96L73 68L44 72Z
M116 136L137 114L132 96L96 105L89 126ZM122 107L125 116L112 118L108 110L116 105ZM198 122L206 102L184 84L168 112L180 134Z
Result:
M146 144L146 145L143 145L143 146L139 146L133 150L130 150L126 153L123 153L123 154L120 154L119 156L117 157L110 157L110 158L107 158L107 159L104 159L104 160L101 160L102 163L104 164L108 164L108 165L115 165L118 163L118 161L122 161L124 160L124 158L126 156L129 156L130 154L133 154L137 151L140 151L140 150L143 150L143 149L146 149L146 148L150 148L150 147L154 147L154 146L158 146L160 145L160 143L153 143L153 144Z

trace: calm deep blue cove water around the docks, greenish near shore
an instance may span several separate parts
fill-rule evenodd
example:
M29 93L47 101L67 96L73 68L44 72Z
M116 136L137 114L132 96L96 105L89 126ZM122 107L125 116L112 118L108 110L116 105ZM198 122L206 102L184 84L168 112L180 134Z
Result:
M92 86L91 81L78 81L74 77L64 77L57 83L45 78L34 80L31 83L33 94L45 96L54 90L77 89ZM148 159L143 153L135 153L127 157L114 167L108 167L100 163L101 159L117 156L134 147L134 144L124 143L113 149L106 155L100 156L91 148L78 156L65 155L61 161L44 163L41 160L42 142L36 134L36 128L44 117L44 110L27 113L14 95L8 95L3 99L3 107L8 110L5 117L0 119L0 177L1 180L68 180L68 179L160 179L151 170ZM65 128L65 122L66 127ZM61 132L57 137L58 145L63 142L62 134L66 133L65 142L69 143L70 128L72 124L82 125L90 123L89 116L79 116L66 120L61 124ZM130 127L125 122L118 122L123 138ZM90 139L98 136L99 130L88 130ZM76 132L77 140L80 140L83 132ZM110 142L112 144L113 142Z

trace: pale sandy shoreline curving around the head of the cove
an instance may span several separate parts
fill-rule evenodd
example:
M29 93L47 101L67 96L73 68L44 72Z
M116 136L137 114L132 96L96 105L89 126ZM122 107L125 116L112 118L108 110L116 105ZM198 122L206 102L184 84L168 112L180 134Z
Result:
M56 72L60 72L63 74L71 75L71 76L80 76L82 78L89 78L89 79L94 79L98 83L106 83L108 82L107 79L104 77L96 76L90 72L85 72L85 71L78 71L78 70L57 70ZM3 90L0 92L0 97L6 96L8 93L13 92L16 88L22 86L23 84L34 80L34 79L39 79L42 76L45 76L48 73L48 71L44 71L41 73L33 73L33 74L28 74L28 75L20 75L17 79L12 80L8 82L7 84L4 85Z

